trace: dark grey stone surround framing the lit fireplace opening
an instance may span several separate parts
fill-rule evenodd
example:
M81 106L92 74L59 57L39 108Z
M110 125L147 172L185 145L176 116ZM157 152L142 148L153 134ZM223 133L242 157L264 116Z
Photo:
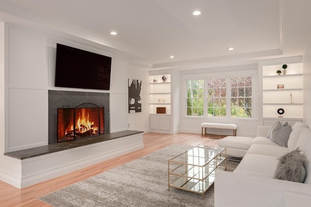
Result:
M82 103L104 107L104 133L109 133L109 94L72 91L49 91L49 144L57 143L57 108L74 108Z

